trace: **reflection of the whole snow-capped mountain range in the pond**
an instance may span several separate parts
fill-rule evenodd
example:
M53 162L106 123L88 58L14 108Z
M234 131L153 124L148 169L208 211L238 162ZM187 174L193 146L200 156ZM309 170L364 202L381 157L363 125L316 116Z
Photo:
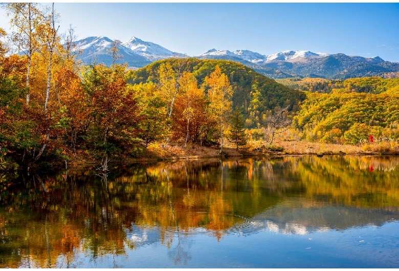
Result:
M277 205L232 228L219 231L222 235L250 235L268 230L281 234L306 235L312 232L345 231L366 226L381 227L384 223L399 221L399 208L362 209L345 206L292 207ZM215 235L214 231L193 228L189 232L165 230L162 227L140 227L132 225L126 231L126 239L140 247L159 242L161 235L172 240L174 237L191 235Z

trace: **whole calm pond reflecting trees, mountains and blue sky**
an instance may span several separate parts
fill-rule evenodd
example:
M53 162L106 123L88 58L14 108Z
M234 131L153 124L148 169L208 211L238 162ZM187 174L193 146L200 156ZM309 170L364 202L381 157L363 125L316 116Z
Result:
M399 268L399 157L0 175L0 267Z

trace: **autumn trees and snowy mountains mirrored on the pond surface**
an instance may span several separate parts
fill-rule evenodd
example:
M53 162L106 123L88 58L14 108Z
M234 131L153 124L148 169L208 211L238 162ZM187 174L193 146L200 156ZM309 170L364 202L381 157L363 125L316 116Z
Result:
M0 267L76 267L158 243L187 264L192 236L223 242L399 220L398 157L215 159L97 174L0 177Z

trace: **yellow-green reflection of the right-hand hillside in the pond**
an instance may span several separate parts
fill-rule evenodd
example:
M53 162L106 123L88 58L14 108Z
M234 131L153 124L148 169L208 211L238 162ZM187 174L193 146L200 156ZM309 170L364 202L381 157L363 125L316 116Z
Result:
M298 160L296 175L308 199L365 208L399 206L398 157L327 156L319 159L312 156L292 159ZM370 166L373 166L372 170Z

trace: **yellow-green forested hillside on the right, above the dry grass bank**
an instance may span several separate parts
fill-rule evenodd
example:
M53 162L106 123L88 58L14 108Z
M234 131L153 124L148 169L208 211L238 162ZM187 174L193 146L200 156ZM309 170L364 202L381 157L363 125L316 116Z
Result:
M294 117L304 139L359 144L399 138L399 79L281 79L306 92Z

